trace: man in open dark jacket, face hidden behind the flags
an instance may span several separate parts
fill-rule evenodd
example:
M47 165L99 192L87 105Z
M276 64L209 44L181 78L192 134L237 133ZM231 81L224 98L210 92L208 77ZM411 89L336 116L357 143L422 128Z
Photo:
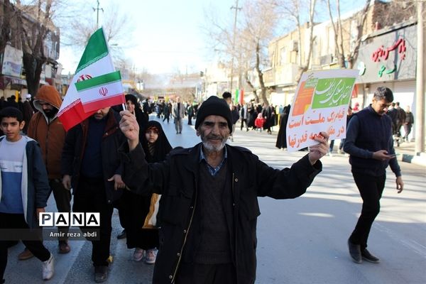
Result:
M108 277L112 202L119 199L125 187L117 151L125 141L119 119L114 109L99 109L67 132L62 149L62 183L73 189L72 211L100 213L99 240L92 241L96 282Z

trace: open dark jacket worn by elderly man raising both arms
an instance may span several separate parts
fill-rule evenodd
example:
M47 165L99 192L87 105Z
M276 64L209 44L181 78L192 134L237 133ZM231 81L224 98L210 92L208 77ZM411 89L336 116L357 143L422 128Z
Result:
M173 283L182 252L196 251L197 239L190 232L199 224L194 221L199 192L200 149L172 151L163 163L143 163L141 144L129 153L126 144L121 148L124 182L141 195L148 189L161 194L160 248L153 273L153 283ZM257 197L275 199L295 198L305 193L317 173L322 170L318 161L312 166L307 155L292 168L275 170L261 162L246 148L226 145L227 169L231 177L233 214L226 214L230 228L231 258L236 268L237 283L254 283L256 279L256 222L259 216ZM192 234L193 235L193 234Z

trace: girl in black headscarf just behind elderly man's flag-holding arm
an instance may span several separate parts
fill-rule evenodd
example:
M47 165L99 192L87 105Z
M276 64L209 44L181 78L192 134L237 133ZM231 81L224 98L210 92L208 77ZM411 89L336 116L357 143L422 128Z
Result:
M172 149L158 121L148 121L146 129L143 131L141 143L148 163L165 160L165 156ZM126 228L127 247L129 249L135 248L134 261L141 261L145 257L146 263L155 263L157 254L155 248L158 248L157 212L159 201L160 196L155 193L140 196L126 190L126 204L129 207L127 216L129 229Z

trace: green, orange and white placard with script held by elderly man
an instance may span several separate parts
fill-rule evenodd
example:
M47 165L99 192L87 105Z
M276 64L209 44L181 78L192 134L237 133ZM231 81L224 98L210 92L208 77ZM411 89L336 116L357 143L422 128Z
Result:
M346 137L346 112L358 70L305 72L297 85L288 118L287 150L317 144L321 131L329 140Z

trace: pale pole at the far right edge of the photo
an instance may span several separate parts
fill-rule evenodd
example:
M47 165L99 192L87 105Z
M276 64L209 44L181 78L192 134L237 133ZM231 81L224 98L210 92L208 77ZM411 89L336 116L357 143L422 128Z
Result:
M424 1L417 1L417 74L415 96L415 154L425 152L425 22Z

